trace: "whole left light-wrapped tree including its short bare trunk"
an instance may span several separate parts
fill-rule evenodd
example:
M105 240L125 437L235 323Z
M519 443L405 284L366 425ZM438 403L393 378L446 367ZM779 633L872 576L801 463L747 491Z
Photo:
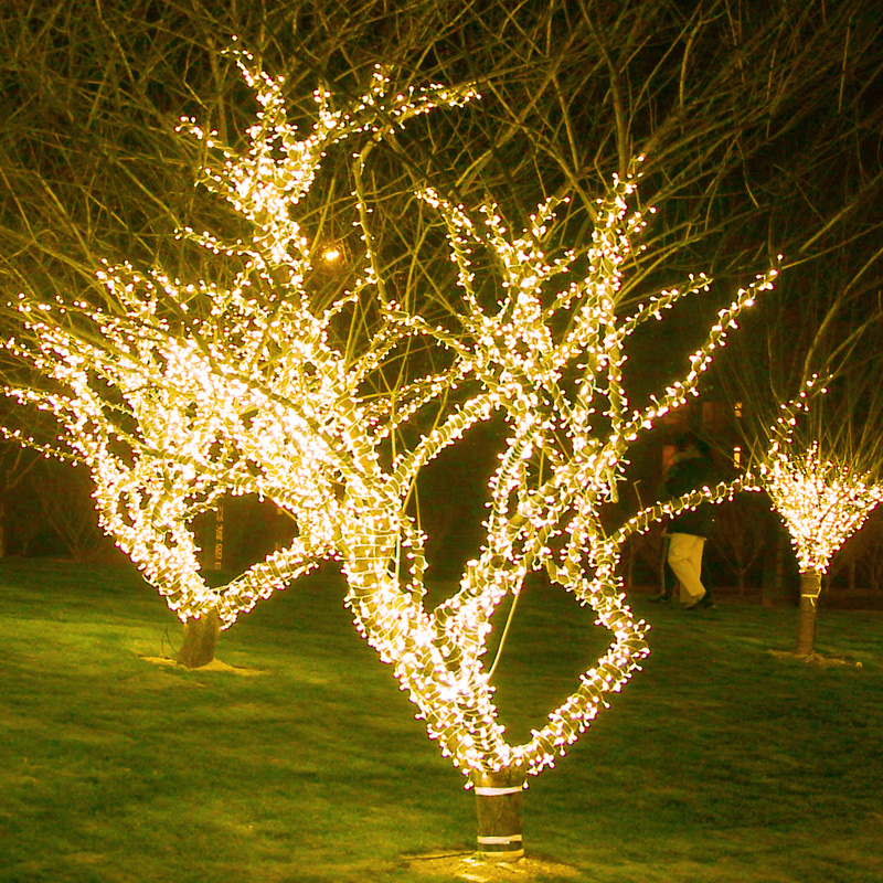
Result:
M199 295L212 305L210 318L200 326L206 337L189 337L181 321L194 296L192 284L182 284L159 270L140 274L124 265L99 273L121 311L96 309L83 300L68 304L61 297L44 304L22 294L19 311L23 333L6 341L7 350L44 380L39 386L7 386L7 394L50 412L61 427L58 444L44 444L22 432L8 433L9 437L46 454L73 458L89 469L102 526L182 621L202 620L200 629L185 634L181 661L188 664L204 664L211 659L219 624L230 626L241 613L252 609L257 598L284 587L329 554L329 538L323 530L308 530L310 515L305 514L326 506L327 494L333 498L333 489L321 481L321 469L313 468L321 457L310 450L304 451L298 483L289 488L297 499L301 528L289 549L269 555L233 583L214 588L201 573L192 528L193 519L215 509L225 493L262 492L228 438L225 421L230 416L220 406L221 393L208 380L219 381L210 366L257 362L267 369L268 340L260 333L267 327L284 327L283 342L288 345L294 342L297 348L299 342L307 350L311 345L321 350L323 345L320 322L309 313L300 288L309 262L308 252L302 251L306 240L300 237L298 225L288 220L287 204L309 191L330 146L369 127L376 132L375 120L381 114L395 118L401 126L408 117L432 108L434 97L445 103L460 100L439 87L412 91L407 97L387 96L386 79L377 73L371 92L351 108L352 113L332 110L328 106L330 96L318 91L319 121L309 138L296 140L296 128L284 118L279 83L266 77L259 81L263 75L254 73L242 57L240 63L249 85L259 82L256 92L265 109L249 132L252 152L236 167L238 177L227 182L231 190L226 195L252 222L254 241L251 246L236 242L224 248L208 234L193 235L214 254L225 249L227 257L251 255L252 259L226 291L200 284ZM201 130L192 128L202 137ZM209 139L212 137L216 134ZM285 161L276 169L270 155L278 148ZM279 172L275 180L274 171ZM265 180L268 177L270 180ZM220 179L214 183L220 184ZM242 201L237 201L237 194ZM268 238L264 228L268 219L281 225L274 231L275 240ZM301 252L292 256L275 251L277 247ZM268 272L268 266L287 267L290 274L279 285L275 299L252 301L252 277ZM301 302L286 302L286 283ZM360 285L370 286L371 280L363 279ZM358 292L348 292L342 305L354 297ZM177 315L163 316L163 307L172 298ZM330 312L333 315L334 308ZM316 337L311 338L313 332ZM391 345L391 339L389 329L381 327L374 341L381 353ZM354 373L370 370L379 358L369 349ZM285 382L298 380L286 377ZM301 375L299 382L304 385L297 394L312 408L313 419L321 412L317 396L326 384L321 376L313 382ZM234 413L255 407L247 390L233 390L238 396L234 400L238 411ZM336 397L344 391L333 383L328 390L337 407ZM224 394L228 392L224 387ZM259 400L262 411L267 404ZM254 417L254 430L263 427L262 421L266 421L264 414ZM276 428L294 432L294 426ZM208 635L202 634L204 630Z

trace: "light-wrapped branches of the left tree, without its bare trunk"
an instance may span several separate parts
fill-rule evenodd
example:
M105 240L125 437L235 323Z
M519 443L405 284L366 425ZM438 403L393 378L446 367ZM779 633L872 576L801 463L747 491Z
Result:
M180 128L221 156L220 168L204 170L204 183L251 222L251 242L181 232L225 264L244 264L233 284L183 283L128 264L106 267L98 276L121 310L20 295L23 333L3 341L47 381L3 391L52 413L60 429L52 444L22 433L8 437L85 466L102 526L169 607L183 621L217 611L224 627L334 554L327 510L334 506L338 460L352 453L348 433L358 419L340 402L352 395L360 372L373 366L369 350L363 364L347 373L327 347L323 326L340 305L323 316L310 311L302 285L309 243L289 206L309 191L331 146L360 134L382 137L390 120L401 126L474 95L440 86L389 95L389 77L377 68L370 91L342 109L332 109L331 95L317 91L318 121L298 139L286 119L284 81L254 70L247 52L231 52L262 108L247 132L248 150L236 155L193 120L183 119ZM281 285L270 277L279 268ZM270 297L256 295L255 276L274 289ZM342 300L358 296L347 292ZM208 319L189 316L194 299L211 305ZM288 363L269 355L270 326L294 357ZM279 396L296 407L287 408ZM270 453L277 435L285 437L288 455L279 464ZM255 481L248 468L253 445L266 449L262 462L279 482ZM265 496L264 485L276 483L285 486L284 500L296 500L289 509L298 535L231 584L206 585L193 519L214 510L225 494Z

